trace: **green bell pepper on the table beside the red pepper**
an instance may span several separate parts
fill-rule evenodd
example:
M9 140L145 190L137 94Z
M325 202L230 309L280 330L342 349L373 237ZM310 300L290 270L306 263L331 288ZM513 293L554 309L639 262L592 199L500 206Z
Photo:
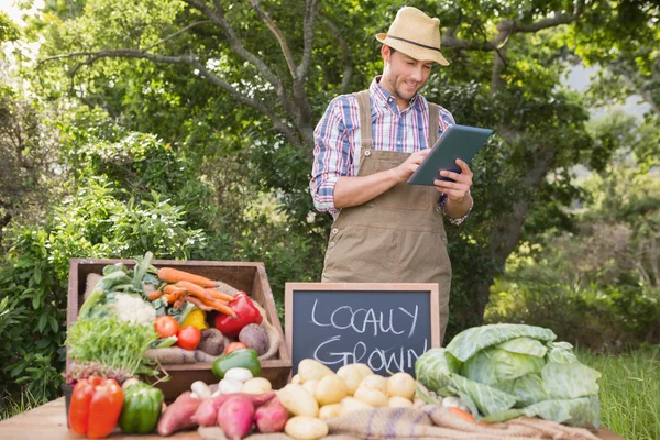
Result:
M125 433L150 433L156 429L163 407L163 392L140 382L124 391L119 427Z

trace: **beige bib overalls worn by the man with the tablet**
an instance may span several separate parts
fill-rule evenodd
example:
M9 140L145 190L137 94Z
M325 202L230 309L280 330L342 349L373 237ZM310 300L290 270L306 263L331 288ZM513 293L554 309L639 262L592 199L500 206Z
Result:
M360 106L362 148L358 176L394 168L409 153L373 150L369 90ZM438 106L429 102L429 140L438 139ZM323 283L438 283L440 341L449 319L451 263L435 187L397 184L360 206L342 208L330 230Z

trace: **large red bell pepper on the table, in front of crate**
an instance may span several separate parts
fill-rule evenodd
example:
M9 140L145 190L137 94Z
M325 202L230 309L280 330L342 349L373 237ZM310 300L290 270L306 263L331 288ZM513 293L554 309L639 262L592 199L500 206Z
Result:
M117 426L123 392L113 378L92 376L79 381L72 394L69 427L90 439L108 437Z

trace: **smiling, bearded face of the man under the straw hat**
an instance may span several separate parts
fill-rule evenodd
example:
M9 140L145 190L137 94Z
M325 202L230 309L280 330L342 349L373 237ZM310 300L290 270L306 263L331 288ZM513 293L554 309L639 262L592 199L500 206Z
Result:
M388 46L383 46L382 54L385 69L381 85L397 100L410 101L429 79L433 62L410 58L398 51L392 53Z

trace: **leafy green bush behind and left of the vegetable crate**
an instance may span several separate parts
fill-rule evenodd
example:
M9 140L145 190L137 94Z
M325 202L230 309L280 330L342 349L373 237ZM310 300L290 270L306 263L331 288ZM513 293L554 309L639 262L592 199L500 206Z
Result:
M68 265L73 257L195 258L207 237L188 229L184 210L162 200L125 199L125 191L91 178L56 206L43 226L14 226L0 266L0 383L36 400L58 395L65 363Z

